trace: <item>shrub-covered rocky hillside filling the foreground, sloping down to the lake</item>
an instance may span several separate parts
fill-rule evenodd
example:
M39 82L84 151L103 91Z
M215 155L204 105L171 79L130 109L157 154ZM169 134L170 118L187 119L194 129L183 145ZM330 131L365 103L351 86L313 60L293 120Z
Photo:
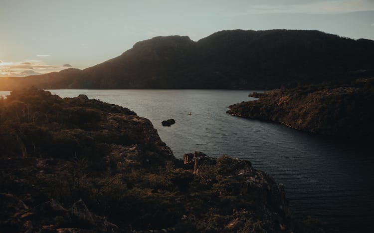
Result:
M0 232L322 232L249 161L174 157L129 109L30 88L0 99Z

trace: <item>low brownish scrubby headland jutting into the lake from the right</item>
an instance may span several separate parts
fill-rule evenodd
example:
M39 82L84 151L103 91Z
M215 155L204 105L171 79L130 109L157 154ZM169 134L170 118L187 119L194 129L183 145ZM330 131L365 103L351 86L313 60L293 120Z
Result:
M374 138L374 78L253 93L258 100L230 106L233 116L348 138Z

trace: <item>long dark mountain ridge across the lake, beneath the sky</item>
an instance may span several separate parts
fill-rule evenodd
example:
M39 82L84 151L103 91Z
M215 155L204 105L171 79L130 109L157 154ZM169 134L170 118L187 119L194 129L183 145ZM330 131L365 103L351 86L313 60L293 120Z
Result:
M373 40L316 30L224 30L197 42L154 37L84 70L0 78L0 89L275 88L373 73Z

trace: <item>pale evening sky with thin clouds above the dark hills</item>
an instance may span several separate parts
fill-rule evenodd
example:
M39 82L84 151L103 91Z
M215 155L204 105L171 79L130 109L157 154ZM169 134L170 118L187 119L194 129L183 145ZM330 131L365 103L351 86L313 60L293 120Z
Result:
M0 76L87 68L159 35L278 28L374 39L374 0L0 0Z

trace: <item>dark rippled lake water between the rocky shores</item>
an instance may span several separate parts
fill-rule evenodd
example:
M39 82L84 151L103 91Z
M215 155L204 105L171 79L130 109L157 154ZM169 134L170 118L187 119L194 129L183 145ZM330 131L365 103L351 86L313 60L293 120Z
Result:
M373 145L226 114L230 104L253 99L249 90L50 91L61 97L86 94L135 111L152 121L177 158L202 151L250 160L285 185L297 218L317 217L339 232L372 230ZM170 118L177 123L163 127Z

